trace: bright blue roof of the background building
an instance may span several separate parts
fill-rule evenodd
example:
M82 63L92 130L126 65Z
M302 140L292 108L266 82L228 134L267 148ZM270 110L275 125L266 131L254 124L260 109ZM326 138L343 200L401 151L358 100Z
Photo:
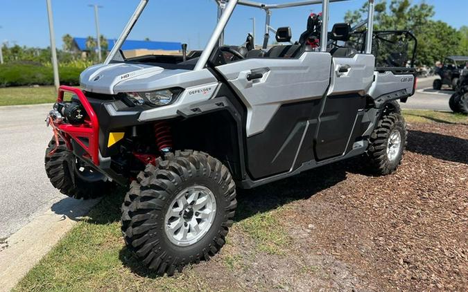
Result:
M85 37L74 37L73 41L80 51L89 51L86 47ZM107 44L109 47L107 51L112 50L116 43L116 39L107 39ZM148 50L164 50L164 51L180 51L182 49L182 44L177 42L153 42L153 41L132 41L127 39L122 46L122 50L136 50L139 48L146 48Z

